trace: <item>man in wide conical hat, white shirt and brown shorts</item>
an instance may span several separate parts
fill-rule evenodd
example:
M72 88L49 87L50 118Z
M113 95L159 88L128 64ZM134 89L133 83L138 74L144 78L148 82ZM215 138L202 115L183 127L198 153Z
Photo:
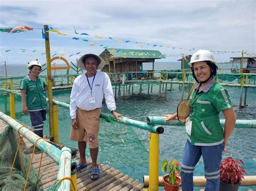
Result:
M70 95L70 116L72 128L70 139L78 142L80 162L78 171L88 166L85 159L86 143L90 147L92 158L91 179L99 178L98 131L99 115L102 101L105 97L107 108L118 121L120 114L116 112L113 90L109 76L97 70L104 67L105 62L96 54L85 54L77 62L79 68L86 70L79 75L74 83Z

